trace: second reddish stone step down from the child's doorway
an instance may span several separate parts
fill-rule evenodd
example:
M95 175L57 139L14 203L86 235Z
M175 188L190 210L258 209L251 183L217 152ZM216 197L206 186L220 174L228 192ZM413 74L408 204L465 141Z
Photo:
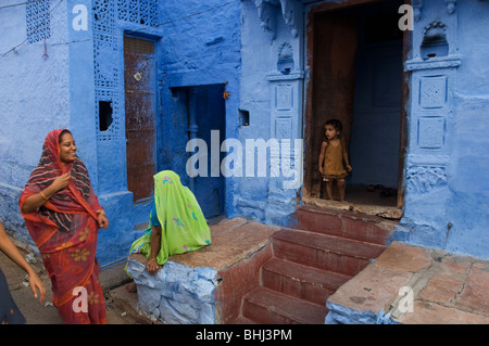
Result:
M347 275L360 272L385 249L384 245L291 229L275 232L272 244L279 259Z

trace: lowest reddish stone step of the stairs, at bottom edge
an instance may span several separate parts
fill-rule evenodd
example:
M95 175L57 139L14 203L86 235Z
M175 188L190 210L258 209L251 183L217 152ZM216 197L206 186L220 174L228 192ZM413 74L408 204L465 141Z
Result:
M242 317L261 324L324 324L328 309L258 287L243 297Z

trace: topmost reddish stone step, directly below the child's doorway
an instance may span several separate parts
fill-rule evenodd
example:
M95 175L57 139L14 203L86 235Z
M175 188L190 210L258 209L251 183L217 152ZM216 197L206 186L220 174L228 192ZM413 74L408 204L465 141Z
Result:
M367 243L387 245L398 221L349 210L300 206L294 218L294 229L336 235Z

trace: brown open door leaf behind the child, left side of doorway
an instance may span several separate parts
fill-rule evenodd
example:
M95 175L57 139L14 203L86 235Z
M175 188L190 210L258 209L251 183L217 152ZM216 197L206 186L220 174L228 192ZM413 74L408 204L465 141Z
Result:
M343 125L341 136L350 143L353 117L356 53L356 31L359 20L343 13L323 13L315 27L314 85L311 150L312 180L311 194L321 197L322 178L317 158L324 136L324 124L331 118ZM315 157L315 159L314 159ZM315 162L315 163L314 163Z

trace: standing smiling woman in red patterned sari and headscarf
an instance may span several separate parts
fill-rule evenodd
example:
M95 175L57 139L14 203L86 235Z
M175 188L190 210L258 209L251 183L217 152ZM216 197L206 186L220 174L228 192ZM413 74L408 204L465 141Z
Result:
M49 272L52 300L63 323L106 323L96 251L98 230L106 229L109 220L68 130L46 137L20 206Z

